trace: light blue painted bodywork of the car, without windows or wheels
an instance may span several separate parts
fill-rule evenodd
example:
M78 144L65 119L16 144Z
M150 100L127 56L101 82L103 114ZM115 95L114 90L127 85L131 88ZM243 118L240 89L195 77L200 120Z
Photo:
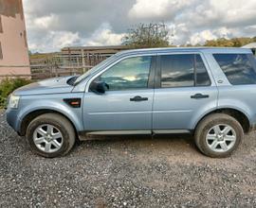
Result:
M162 54L200 54L210 76L210 86L113 91L103 95L89 92L89 84L109 66L133 56ZM193 130L208 113L217 109L234 109L244 113L250 126L256 124L256 86L229 83L228 78L213 59L214 53L251 54L242 48L155 48L120 52L82 76L75 86L66 78L50 78L16 90L17 109L7 110L9 125L21 133L27 114L40 110L62 113L81 131L115 130ZM191 95L206 94L207 99L191 99ZM147 96L143 102L130 102L130 97ZM81 98L82 107L72 108L64 98ZM143 131L144 130L144 131ZM24 133L23 133L24 134Z

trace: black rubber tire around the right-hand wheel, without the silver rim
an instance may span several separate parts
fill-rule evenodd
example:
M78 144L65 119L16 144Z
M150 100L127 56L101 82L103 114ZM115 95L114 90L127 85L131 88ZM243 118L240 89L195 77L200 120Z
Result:
M235 131L236 134L236 140L234 142L233 147L230 147L229 150L224 152L216 152L211 150L207 144L206 139L210 129L213 128L215 125L220 124L229 125ZM202 121L200 121L194 133L195 145L203 154L212 158L229 157L230 154L240 145L243 137L244 130L241 124L234 117L225 113L214 113L208 115Z

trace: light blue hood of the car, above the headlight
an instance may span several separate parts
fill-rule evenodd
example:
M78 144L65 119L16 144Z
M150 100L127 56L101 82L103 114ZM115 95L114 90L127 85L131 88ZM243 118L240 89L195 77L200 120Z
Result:
M48 78L23 86L14 91L14 95L48 95L70 93L74 86L67 84L67 80L73 78Z

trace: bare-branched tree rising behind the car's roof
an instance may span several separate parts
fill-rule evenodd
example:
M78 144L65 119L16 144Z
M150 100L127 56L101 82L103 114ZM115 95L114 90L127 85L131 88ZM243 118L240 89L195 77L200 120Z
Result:
M133 48L167 47L169 32L164 23L139 24L128 29L128 34L123 38L123 44Z

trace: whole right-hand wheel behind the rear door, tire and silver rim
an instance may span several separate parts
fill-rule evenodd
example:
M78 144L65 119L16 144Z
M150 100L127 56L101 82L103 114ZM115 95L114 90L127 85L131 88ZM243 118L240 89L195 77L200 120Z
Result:
M228 157L241 143L244 130L240 123L225 113L205 117L195 130L195 144L210 157Z

